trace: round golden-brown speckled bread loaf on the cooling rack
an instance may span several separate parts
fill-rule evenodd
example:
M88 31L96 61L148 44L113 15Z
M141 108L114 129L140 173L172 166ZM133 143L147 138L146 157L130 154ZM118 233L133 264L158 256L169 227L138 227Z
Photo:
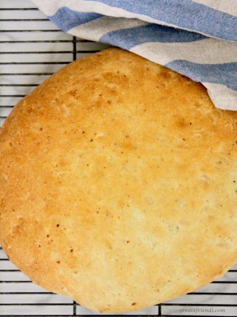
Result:
M70 63L0 132L0 242L101 312L191 292L237 260L237 113L121 49Z

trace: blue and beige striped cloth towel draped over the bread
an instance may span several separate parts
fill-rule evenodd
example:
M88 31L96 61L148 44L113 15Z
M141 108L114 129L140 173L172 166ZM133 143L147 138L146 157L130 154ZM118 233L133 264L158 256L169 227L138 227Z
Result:
M127 49L200 81L237 110L236 0L34 0L60 29Z

